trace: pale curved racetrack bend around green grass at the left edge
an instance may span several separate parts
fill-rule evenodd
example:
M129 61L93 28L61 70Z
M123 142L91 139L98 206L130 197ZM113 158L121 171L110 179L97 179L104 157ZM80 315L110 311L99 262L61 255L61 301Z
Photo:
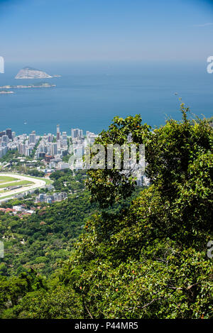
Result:
M44 187L46 185L44 180L31 178L31 176L18 175L16 173L0 173L0 176L3 176L3 177L9 176L9 177L17 178L18 180L28 180L29 182L33 182L32 185L29 185L26 188L20 187L20 188L17 188L16 190L11 190L6 193L0 193L0 202L9 200L10 198L7 196L10 196L12 198L14 195L17 195L18 193L29 192L31 190L35 190L36 188ZM16 181L14 180L14 182L16 182ZM8 183L8 185L9 185L9 183ZM1 199L1 197L6 197L6 198Z

